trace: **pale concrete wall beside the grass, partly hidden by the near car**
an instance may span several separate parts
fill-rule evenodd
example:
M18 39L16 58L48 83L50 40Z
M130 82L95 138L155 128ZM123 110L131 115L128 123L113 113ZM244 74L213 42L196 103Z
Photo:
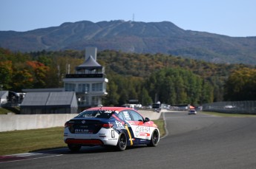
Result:
M160 113L154 111L139 111L143 117L157 120ZM52 128L65 125L65 122L77 114L1 114L0 132L29 130L36 128Z

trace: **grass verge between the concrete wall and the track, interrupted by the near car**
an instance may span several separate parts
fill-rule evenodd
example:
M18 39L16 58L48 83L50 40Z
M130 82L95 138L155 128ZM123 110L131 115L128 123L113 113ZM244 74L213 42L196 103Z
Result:
M164 121L154 120L163 136ZM0 155L21 154L47 148L62 148L63 127L0 132ZM160 136L160 137L161 137Z

